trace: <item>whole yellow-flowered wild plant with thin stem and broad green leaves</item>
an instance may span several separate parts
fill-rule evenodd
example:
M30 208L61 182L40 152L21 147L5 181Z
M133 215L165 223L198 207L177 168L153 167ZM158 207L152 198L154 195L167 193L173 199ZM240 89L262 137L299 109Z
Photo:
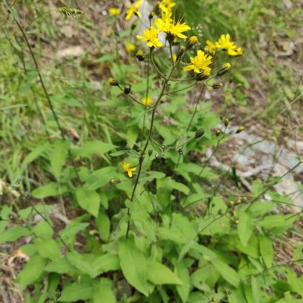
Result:
M229 61L236 62L242 49L229 34L215 42L197 36L172 0L159 1L144 24L142 3L109 9L110 22L130 23L121 33L130 41L119 37L117 43L129 65L121 63L118 51L99 58L111 66L101 91L107 98L94 110L87 106L86 114L97 125L94 136L100 132L102 139L80 142L67 138L55 98L12 14L60 131L54 140L52 129L48 140L30 146L21 165L40 163L48 182L29 196L17 182L0 180L0 198L11 201L0 209L0 244L29 239L15 254L27 260L16 282L22 291L34 286L29 302L299 301L302 281L287 265L302 262L302 247L287 264L277 263L273 250L274 239L299 217L274 212L277 205L291 204L272 191L280 178L255 180L251 192L243 193L235 167L223 173L210 167L221 143L244 127L234 117L214 114L204 101L205 88L226 85ZM66 9L61 14L70 16ZM138 24L144 29L135 34ZM55 197L56 208L43 203ZM16 198L29 206L20 209ZM69 202L79 213L74 218L65 213ZM17 220L11 219L13 210ZM63 217L64 227L54 217Z

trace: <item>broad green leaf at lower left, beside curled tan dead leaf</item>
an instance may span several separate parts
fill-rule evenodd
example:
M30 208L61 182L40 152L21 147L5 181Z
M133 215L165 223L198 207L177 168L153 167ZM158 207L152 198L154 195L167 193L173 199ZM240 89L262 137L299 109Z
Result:
M27 285L32 284L40 278L45 264L46 259L38 255L31 257L16 278L16 282L20 284L21 290L25 289Z

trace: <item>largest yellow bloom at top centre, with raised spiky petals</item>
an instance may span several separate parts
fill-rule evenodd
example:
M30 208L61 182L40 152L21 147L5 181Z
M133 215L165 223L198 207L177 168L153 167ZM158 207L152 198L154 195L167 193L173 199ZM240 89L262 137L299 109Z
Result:
M172 20L171 14L162 14L161 19L156 19L155 24L159 28L159 31L164 31L179 38L186 39L186 36L182 32L190 30L190 27L184 23L181 23L180 20L177 22Z

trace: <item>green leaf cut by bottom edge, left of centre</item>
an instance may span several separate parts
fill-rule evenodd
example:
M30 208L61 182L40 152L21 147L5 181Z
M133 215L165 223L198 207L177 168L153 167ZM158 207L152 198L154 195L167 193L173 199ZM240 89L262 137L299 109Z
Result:
M88 300L92 296L92 285L75 282L63 287L62 293L58 301L73 302L79 300Z

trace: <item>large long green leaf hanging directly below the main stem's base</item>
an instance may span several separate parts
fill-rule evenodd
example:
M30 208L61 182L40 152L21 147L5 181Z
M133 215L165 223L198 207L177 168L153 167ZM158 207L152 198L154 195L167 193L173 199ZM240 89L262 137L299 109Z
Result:
M134 239L121 239L118 254L124 277L138 291L148 296L146 259L135 246Z

